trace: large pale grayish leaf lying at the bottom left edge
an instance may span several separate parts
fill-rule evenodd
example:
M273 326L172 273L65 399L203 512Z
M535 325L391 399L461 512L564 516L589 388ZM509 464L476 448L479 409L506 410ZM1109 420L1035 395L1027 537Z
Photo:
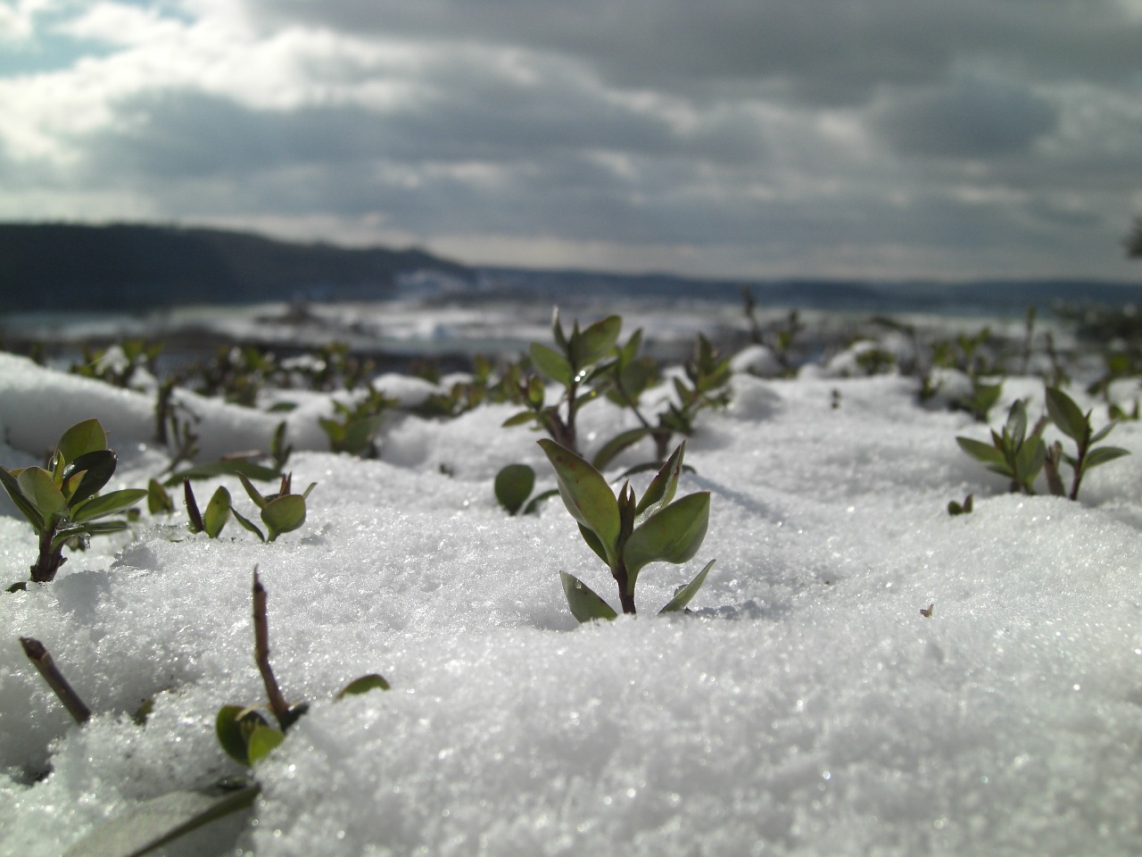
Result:
M233 790L170 792L114 816L72 844L63 857L143 857L211 822L248 809L257 783Z

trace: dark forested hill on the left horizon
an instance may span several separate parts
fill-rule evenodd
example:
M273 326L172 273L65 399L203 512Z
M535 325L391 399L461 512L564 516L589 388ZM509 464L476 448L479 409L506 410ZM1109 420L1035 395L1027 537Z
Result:
M420 250L288 243L210 229L0 224L0 312L376 299L393 294L401 272L424 269L472 275Z

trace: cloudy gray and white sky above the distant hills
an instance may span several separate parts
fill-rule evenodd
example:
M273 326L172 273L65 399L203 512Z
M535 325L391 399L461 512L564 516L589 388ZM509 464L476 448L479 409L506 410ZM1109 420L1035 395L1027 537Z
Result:
M0 219L1142 279L1142 0L0 0Z

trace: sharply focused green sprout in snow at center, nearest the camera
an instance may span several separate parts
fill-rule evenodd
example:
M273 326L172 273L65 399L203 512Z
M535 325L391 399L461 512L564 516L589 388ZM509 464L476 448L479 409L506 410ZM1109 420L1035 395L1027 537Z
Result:
M546 439L539 446L555 468L560 495L579 522L584 540L611 570L619 586L622 612L634 614L635 584L642 569L651 562L689 562L706 537L709 491L674 499L685 442L662 465L642 499L635 497L629 482L624 483L616 497L603 475L570 449ZM660 612L685 608L713 564L711 560L693 580L679 587ZM560 572L560 578L571 612L579 622L616 618L618 614L611 606L585 583L565 571Z

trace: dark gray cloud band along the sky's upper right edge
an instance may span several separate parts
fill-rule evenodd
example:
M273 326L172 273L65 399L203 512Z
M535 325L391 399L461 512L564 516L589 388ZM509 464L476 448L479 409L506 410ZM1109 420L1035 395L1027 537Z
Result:
M770 81L799 98L859 103L883 83L941 79L960 57L1036 77L1118 85L1142 22L1115 0L247 0L266 22L523 46L580 57L620 86L689 91Z

